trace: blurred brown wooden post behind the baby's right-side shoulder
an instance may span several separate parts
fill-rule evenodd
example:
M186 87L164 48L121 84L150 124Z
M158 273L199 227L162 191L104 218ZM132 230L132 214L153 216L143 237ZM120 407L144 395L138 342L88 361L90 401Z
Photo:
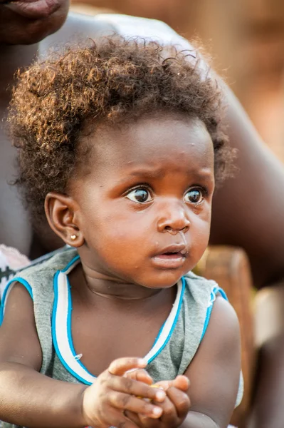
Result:
M256 360L252 313L253 285L248 258L241 248L211 246L201 259L197 273L218 282L238 315L241 328L244 394L241 404L233 413L231 423L242 428L250 405Z

